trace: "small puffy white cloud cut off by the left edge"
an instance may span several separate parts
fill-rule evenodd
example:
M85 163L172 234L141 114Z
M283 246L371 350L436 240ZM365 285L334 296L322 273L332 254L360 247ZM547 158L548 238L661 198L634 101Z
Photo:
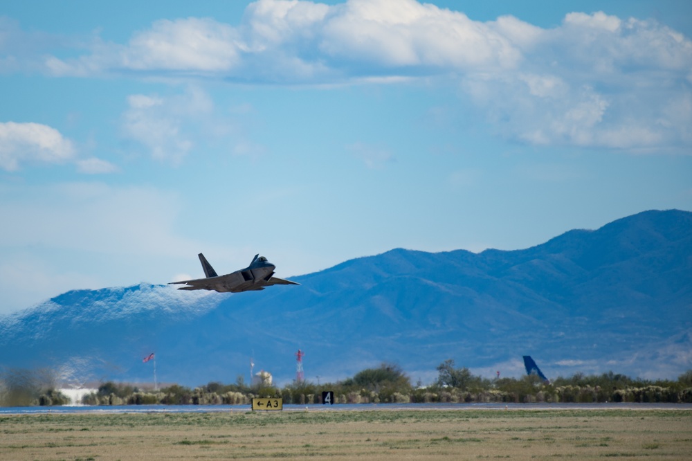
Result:
M40 123L0 123L0 168L20 163L65 163L75 156L72 142L55 128Z

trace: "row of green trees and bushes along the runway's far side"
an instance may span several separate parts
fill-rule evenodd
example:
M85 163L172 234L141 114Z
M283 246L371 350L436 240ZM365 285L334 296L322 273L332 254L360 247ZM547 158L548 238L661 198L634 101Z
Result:
M82 404L110 405L244 405L253 397L282 397L284 404L320 404L322 391L334 391L336 404L387 403L595 403L669 402L692 403L692 370L676 381L632 379L607 372L599 375L573 374L544 382L537 376L487 379L468 368L455 367L453 360L437 366L434 383L413 385L398 365L383 363L362 370L343 381L316 385L293 382L283 388L248 386L242 377L236 383L210 382L205 386L166 386L158 390L131 384L102 383L85 395ZM0 370L0 406L51 406L69 404L55 388L48 370Z

